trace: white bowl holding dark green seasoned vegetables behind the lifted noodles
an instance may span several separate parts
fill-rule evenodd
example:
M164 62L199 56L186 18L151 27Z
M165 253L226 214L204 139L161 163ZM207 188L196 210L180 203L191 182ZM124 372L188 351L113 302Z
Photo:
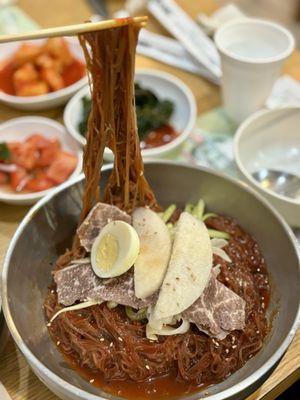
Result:
M194 128L197 115L196 101L191 90L178 78L166 72L140 69L136 71L135 81L142 87L151 89L160 99L171 100L175 109L170 124L180 132L180 135L170 143L154 149L142 150L144 158L162 157L177 149L190 135ZM86 140L78 130L82 119L81 99L90 96L89 87L82 88L68 102L64 111L64 123L70 134L84 145ZM109 149L105 150L105 159L112 161L113 155Z

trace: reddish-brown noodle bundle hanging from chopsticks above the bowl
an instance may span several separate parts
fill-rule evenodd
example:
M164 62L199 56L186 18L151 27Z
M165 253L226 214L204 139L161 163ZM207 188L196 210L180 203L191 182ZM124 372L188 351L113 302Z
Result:
M79 36L92 92L83 160L86 180L81 221L100 199L100 169L105 146L112 150L115 158L103 200L127 212L137 206L157 207L144 176L137 134L134 65L138 32L139 27L129 24Z

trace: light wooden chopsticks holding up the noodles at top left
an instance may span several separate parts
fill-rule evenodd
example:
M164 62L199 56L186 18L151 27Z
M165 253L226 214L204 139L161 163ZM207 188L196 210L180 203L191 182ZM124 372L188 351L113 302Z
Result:
M40 29L33 32L17 33L13 35L0 35L0 43L16 42L19 40L33 40L57 36L75 36L79 33L100 31L104 29L118 28L120 26L134 23L139 26L145 26L148 17L128 17L107 19L99 22L86 22L84 24L66 25L55 28Z

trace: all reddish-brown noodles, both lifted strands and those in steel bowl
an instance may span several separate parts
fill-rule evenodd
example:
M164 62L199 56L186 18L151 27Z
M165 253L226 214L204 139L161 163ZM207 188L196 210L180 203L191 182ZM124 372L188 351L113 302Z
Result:
M79 37L91 75L93 104L84 152L86 180L80 221L101 198L99 180L105 146L113 151L115 161L104 201L127 212L139 205L157 207L144 177L136 128L133 78L138 30L129 24ZM243 331L234 331L216 344L191 327L184 335L151 342L145 337L145 321L132 322L122 306L109 309L102 304L61 314L52 322L49 331L60 350L109 382L146 382L170 376L208 385L244 365L261 348L269 331L265 312L270 287L265 261L254 239L233 220L220 216L206 223L231 235L226 252L232 263L218 257L214 263L221 264L218 279L246 301ZM80 254L82 249L75 243L73 251L59 258L56 269L66 266L75 252L76 256ZM55 286L51 289L44 304L48 320L61 308Z

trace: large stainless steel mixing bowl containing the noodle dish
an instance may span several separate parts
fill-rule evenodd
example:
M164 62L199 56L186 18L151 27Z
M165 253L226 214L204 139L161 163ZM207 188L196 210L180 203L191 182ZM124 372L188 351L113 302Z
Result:
M108 175L106 169L103 184ZM236 218L254 235L266 258L273 288L270 312L277 311L272 333L259 354L243 368L207 389L209 400L237 398L278 362L295 334L300 287L295 238L278 213L245 184L206 169L168 162L147 163L146 175L162 204L183 205L202 197L210 210ZM14 340L32 369L58 396L65 400L116 399L67 367L50 340L42 310L52 263L74 233L82 180L79 177L42 199L19 226L4 263L3 309Z

